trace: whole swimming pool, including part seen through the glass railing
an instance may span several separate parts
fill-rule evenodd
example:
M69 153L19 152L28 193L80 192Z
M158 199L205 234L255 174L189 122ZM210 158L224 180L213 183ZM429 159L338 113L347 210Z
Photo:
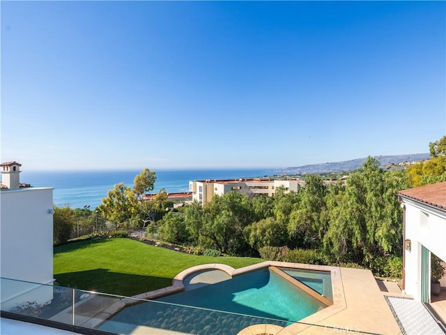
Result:
M144 325L187 334L237 334L259 323L286 327L327 306L269 267L232 278L211 271L210 283L196 280L206 278L206 271L192 274L184 279L184 291L125 307L99 329L130 334Z

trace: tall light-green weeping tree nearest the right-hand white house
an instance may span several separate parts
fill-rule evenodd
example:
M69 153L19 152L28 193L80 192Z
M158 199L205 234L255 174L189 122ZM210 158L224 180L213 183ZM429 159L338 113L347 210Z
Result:
M402 211L395 195L404 186L403 173L385 172L369 157L344 189L327 198L325 250L338 261L366 265L378 255L401 253Z

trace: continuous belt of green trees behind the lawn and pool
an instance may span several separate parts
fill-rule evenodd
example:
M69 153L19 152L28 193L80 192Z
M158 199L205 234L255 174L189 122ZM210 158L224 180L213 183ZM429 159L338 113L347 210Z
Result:
M308 175L297 193L284 187L276 188L272 197L233 191L215 195L204 207L187 204L180 214L166 211L171 206L165 190L151 201L137 201L138 192L153 188L155 181L154 172L146 169L135 178L134 189L117 184L109 191L100 210L118 222L135 217L144 223L158 220L159 238L171 243L228 255L259 255L260 250L282 260L353 262L379 271L392 269L393 274L399 271L402 255L397 193L446 180L445 144L446 137L430 143L431 158L406 171L383 170L369 157L346 179L326 184L320 176Z

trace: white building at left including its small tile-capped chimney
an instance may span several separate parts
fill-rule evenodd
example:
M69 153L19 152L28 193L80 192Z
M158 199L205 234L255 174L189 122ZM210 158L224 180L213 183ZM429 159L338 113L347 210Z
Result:
M21 187L26 185L20 184L20 166L17 162L0 165L0 298L3 309L20 304L23 301L18 299L26 299L24 293L39 287L17 285L3 278L51 285L54 282L53 188ZM44 291L40 295L42 303L52 299L52 290Z

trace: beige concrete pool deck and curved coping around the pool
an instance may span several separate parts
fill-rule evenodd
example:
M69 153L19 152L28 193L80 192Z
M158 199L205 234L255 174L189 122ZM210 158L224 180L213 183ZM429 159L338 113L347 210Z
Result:
M236 276L262 267L331 271L333 304L285 328L276 325L253 325L243 329L238 335L360 334L364 332L402 334L384 297L390 295L410 298L410 296L403 295L397 290L381 291L370 270L287 262L262 262L242 269L232 269L226 265L199 265L180 272L174 281L183 281L186 276L206 269L221 269L231 276Z

